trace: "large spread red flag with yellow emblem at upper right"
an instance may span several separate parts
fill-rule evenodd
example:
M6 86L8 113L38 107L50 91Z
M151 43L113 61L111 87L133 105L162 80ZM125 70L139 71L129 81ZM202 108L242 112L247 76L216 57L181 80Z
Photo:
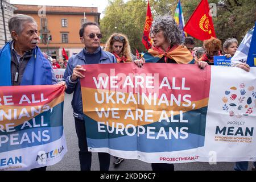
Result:
M210 16L209 13L208 1L201 0L183 30L194 38L202 41L212 37L216 38L212 16Z

